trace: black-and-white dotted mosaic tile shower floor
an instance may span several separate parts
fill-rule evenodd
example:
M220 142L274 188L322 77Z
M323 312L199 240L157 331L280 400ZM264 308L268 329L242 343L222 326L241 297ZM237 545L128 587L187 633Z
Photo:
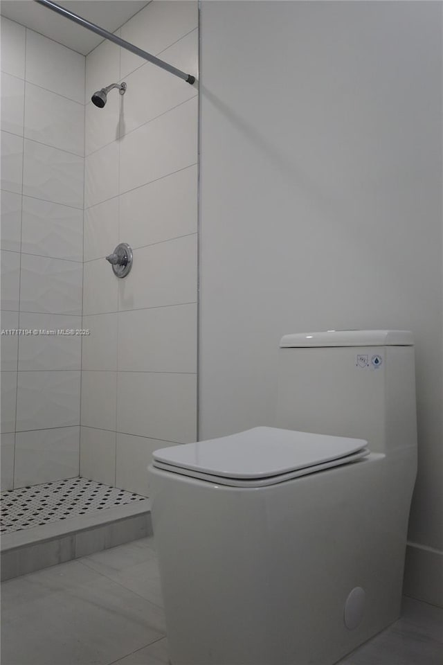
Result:
M80 477L8 490L0 495L0 533L69 520L145 499Z

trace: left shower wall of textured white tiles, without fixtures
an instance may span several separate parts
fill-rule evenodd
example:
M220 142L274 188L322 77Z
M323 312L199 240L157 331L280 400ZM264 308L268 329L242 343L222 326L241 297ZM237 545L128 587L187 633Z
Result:
M81 328L84 56L1 18L1 328ZM80 337L1 337L1 489L78 475Z

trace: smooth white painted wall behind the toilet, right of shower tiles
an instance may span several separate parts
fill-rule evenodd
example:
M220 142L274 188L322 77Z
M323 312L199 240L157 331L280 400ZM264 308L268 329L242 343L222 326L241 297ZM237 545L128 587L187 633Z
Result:
M441 14L420 2L201 6L200 438L274 424L283 333L413 330L419 473L406 591L435 603Z

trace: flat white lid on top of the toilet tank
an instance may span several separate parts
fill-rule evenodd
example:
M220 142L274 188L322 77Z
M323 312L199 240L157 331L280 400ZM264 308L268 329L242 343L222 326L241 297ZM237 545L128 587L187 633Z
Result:
M283 335L280 348L316 346L413 346L409 330L325 330Z

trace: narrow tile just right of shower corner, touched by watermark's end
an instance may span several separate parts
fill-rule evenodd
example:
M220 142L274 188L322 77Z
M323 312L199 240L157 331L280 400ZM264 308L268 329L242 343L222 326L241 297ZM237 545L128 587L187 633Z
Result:
M118 314L83 317L83 328L90 330L82 342L82 369L117 369Z

